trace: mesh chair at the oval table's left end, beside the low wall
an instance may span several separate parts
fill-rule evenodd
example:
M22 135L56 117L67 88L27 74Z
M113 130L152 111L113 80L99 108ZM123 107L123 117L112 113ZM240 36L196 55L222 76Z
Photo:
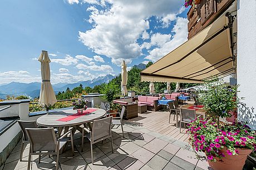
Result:
M22 141L21 141L21 154L19 155L19 161L22 161L24 142L28 141L28 136L25 128L38 128L36 121L22 121L18 120L18 124L22 131Z

